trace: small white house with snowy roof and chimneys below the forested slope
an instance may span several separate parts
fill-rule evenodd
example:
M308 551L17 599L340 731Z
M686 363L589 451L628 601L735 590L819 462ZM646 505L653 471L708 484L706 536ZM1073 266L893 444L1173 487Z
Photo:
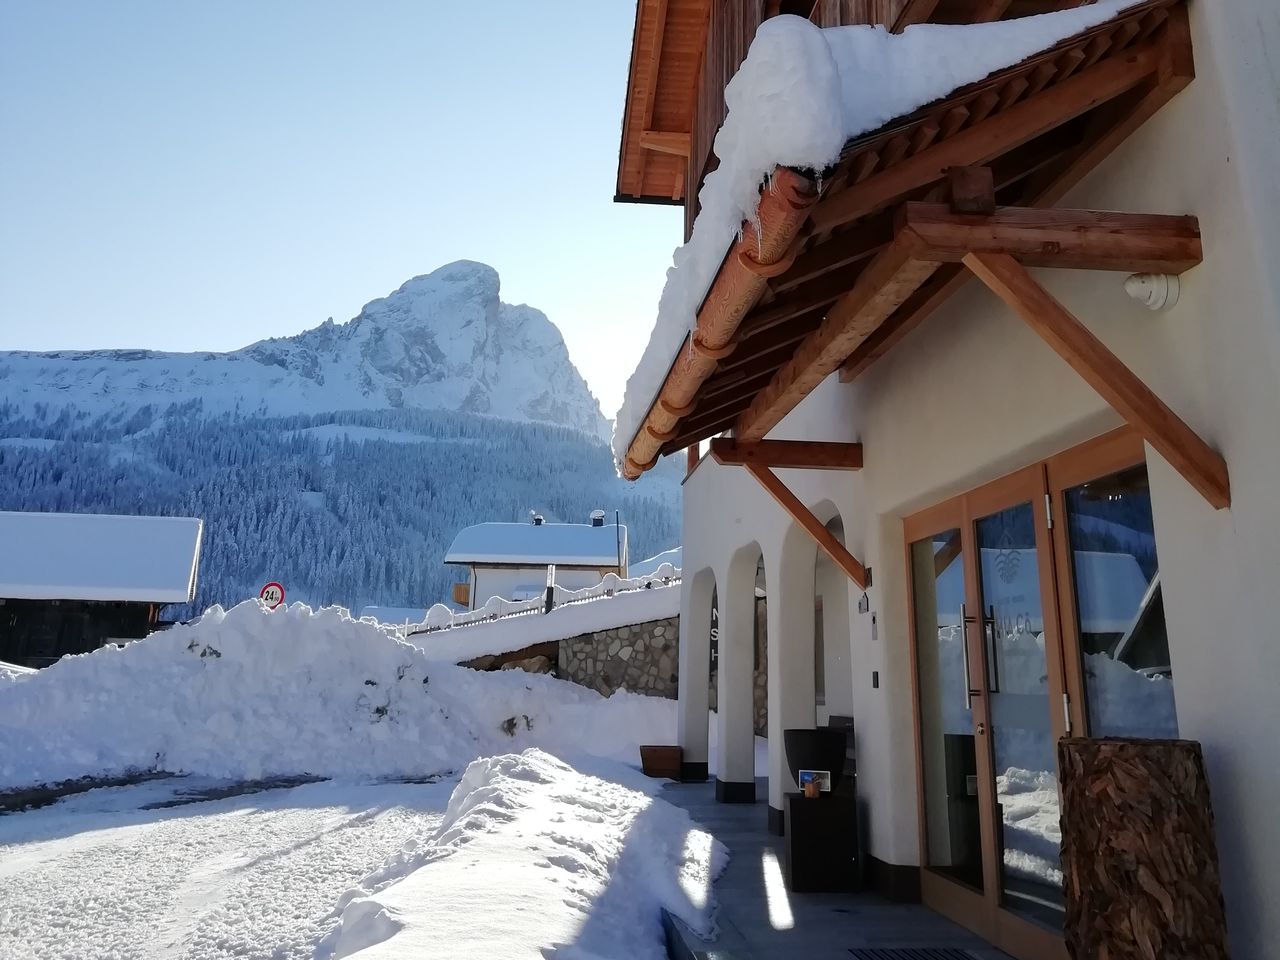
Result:
M445 563L467 567L467 581L453 588L454 603L476 609L490 596L527 600L547 589L547 568L568 590L599 584L605 573L627 575L627 529L605 524L604 511L589 524L476 524L453 538Z

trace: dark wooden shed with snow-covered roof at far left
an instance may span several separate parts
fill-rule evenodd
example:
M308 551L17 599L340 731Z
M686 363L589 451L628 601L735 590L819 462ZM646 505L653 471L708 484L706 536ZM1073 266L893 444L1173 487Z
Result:
M202 538L193 517L0 512L0 660L145 637L195 599Z

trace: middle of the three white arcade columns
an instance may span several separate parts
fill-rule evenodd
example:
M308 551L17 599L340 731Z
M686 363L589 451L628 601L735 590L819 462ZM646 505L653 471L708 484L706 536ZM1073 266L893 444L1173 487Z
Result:
M751 669L758 557L756 550L740 550L730 563L727 575L717 576L717 584L723 586L718 590L716 778L723 783L755 783Z

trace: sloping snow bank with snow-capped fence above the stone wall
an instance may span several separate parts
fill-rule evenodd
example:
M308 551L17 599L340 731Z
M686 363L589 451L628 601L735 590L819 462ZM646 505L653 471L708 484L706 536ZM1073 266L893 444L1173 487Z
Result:
M430 632L411 631L408 637L422 646L429 659L461 663L532 644L680 616L678 581L659 585L659 580L650 580L646 581L649 586L611 595L604 593L604 588L612 576L605 577L605 584L585 590L562 591L557 588L559 605L545 614L541 613L540 599L503 600L494 596L480 609L466 614L453 614L448 607L436 604L428 611ZM564 596L571 602L564 602Z

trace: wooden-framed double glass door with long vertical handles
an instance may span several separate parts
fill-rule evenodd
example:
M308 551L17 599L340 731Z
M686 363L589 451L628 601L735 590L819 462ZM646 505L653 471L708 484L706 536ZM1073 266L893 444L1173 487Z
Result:
M1036 960L1065 956L1055 758L1066 714L1044 490L1037 465L906 524L922 891Z

